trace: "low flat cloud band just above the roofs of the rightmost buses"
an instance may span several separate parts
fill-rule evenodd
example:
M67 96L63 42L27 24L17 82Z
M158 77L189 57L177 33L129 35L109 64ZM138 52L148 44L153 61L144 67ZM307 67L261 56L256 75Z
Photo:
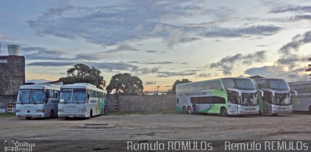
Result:
M309 79L308 74L305 73L306 68L296 68L293 70L284 70L284 66L272 65L249 68L244 71L244 74L251 76L263 76L270 78L283 78L283 79Z

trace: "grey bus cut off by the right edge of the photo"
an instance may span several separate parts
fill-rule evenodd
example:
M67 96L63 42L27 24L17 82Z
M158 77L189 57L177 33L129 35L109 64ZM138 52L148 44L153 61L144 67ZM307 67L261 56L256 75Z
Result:
M288 82L291 89L297 91L292 94L294 111L311 112L311 80Z

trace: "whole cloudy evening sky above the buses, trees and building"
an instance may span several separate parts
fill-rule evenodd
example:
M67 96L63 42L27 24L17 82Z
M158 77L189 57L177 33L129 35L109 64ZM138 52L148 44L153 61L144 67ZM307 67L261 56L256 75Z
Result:
M76 63L138 76L144 90L177 79L309 79L310 0L1 0L1 54L20 45L26 80L58 80Z

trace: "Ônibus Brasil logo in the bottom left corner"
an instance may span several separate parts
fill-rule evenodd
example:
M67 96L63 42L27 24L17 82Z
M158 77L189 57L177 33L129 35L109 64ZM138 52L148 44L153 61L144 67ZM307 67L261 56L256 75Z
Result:
M32 152L35 143L24 142L14 142L14 140L4 141L4 151L5 152Z

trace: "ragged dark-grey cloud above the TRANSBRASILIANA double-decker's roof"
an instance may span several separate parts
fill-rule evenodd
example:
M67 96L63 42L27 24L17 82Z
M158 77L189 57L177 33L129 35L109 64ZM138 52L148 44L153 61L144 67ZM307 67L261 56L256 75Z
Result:
M238 61L242 61L242 64L250 65L253 62L262 62L265 60L266 51L257 51L252 54L242 55L240 53L234 56L226 56L218 62L213 62L209 64L210 68L220 68L225 76L230 76L233 70L234 64Z

